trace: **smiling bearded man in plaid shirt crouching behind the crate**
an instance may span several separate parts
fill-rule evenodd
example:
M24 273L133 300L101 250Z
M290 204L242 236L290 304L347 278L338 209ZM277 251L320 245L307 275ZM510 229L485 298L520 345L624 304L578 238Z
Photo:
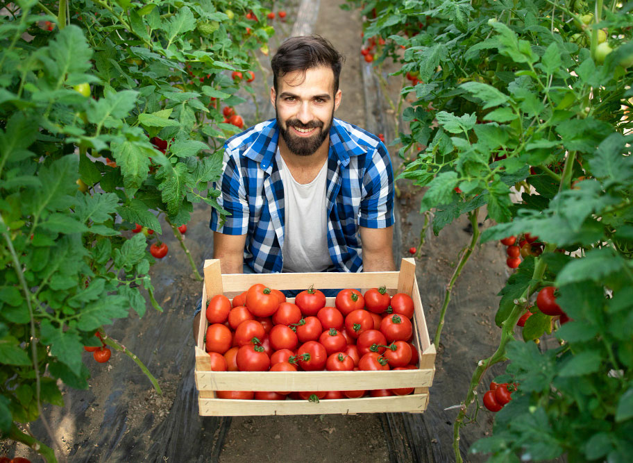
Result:
M273 57L276 119L225 144L216 186L228 216L213 210L210 222L222 273L395 270L389 153L335 119L342 61L319 36L292 37Z

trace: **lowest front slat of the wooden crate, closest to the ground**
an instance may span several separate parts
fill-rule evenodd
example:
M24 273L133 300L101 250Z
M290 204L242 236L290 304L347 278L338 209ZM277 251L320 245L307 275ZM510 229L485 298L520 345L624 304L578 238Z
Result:
M423 412L428 406L428 394L411 396L348 398L330 401L238 401L199 399L202 416L252 416L294 414L352 414L379 412Z

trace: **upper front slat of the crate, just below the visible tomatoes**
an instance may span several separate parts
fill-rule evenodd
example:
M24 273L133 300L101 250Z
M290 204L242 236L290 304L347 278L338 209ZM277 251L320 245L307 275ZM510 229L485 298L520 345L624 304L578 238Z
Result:
M434 369L387 371L195 371L201 391L355 391L426 387Z

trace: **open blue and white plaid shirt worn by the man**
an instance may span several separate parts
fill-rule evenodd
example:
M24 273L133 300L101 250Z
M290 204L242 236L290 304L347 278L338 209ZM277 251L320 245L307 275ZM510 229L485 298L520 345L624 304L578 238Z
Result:
M217 201L228 211L222 222L211 213L210 228L226 235L247 235L244 262L257 273L283 268L284 189L281 180L279 129L264 121L224 144L223 175L214 184ZM328 271L362 271L358 227L394 224L394 173L389 151L362 128L332 121L326 182Z

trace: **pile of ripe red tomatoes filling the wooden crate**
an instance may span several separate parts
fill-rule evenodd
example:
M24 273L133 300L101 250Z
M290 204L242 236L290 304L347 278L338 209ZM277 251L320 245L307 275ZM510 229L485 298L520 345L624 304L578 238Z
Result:
M277 289L256 284L233 298L233 303L223 294L214 296L205 314L210 323L205 347L213 371L417 368L419 355L412 344L413 300L404 293L389 296L385 287L364 294L343 289L335 298L335 307L328 307L326 296L313 287L297 294L291 303ZM217 397L318 400L407 395L413 390L219 391Z

